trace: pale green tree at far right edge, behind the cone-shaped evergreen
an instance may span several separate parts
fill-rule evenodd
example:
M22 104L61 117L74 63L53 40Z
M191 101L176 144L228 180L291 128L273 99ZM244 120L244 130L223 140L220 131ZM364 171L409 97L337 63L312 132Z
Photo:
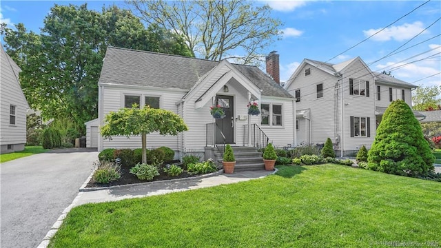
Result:
M441 105L441 85L417 87L412 95L413 110L439 110Z

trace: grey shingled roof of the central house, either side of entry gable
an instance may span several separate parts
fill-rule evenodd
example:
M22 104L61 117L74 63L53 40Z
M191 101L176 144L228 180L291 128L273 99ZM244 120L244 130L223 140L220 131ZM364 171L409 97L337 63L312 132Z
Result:
M218 61L109 46L99 83L190 90L218 64ZM263 96L293 97L256 66L232 65L263 90Z

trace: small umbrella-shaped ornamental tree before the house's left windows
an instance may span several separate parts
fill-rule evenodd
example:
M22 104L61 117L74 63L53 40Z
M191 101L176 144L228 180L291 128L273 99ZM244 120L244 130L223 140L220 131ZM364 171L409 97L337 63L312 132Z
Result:
M105 125L101 127L104 138L111 136L141 135L142 163L147 163L147 134L159 132L162 135L178 135L188 130L181 116L169 110L154 109L149 106L139 108L123 108L118 112L110 112L105 116Z

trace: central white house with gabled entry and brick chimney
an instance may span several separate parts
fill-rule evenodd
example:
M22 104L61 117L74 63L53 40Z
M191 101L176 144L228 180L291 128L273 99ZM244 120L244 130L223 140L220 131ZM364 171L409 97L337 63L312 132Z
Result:
M278 54L267 56L267 72L278 81ZM167 146L181 156L203 154L206 147L225 143L236 146L282 147L294 143L294 98L256 66L236 65L185 56L108 47L99 79L99 114L86 123L88 147L138 148L141 138L99 135L99 126L111 111L133 103L171 110L189 130L178 136L147 135L147 147ZM250 102L262 109L247 114ZM221 105L225 118L214 119L210 106ZM251 130L252 135L247 136ZM222 134L220 134L222 132ZM268 137L265 138L264 134Z

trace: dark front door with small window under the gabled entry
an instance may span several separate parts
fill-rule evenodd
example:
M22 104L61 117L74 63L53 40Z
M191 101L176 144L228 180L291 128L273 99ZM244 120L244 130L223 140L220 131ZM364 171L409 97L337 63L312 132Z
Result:
M216 119L216 144L223 144L223 136L225 143L234 143L234 104L233 96L216 96L216 104L222 107L225 117ZM220 133L222 131L222 134Z

